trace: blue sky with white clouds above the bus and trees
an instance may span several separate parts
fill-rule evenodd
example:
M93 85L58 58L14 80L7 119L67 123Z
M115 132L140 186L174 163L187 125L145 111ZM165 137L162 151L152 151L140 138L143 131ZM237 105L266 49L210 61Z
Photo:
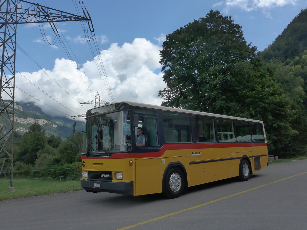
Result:
M76 5L81 9L79 0L37 2L72 14L78 14ZM17 25L15 101L34 102L43 112L64 117L84 114L94 107L79 102L95 100L97 92L100 100L107 102L161 105L158 90L166 85L159 61L166 34L206 17L211 9L219 10L223 16L231 15L242 26L247 44L251 42L261 51L307 7L306 0L83 3L91 16L97 45L86 41L80 21L57 22L60 40L53 45L45 42L52 43L56 37L48 23Z

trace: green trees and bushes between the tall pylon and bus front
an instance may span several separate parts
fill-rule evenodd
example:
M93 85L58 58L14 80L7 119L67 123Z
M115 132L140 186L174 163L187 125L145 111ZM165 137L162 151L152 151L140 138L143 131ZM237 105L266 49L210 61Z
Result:
M47 136L38 123L23 135L14 131L14 177L80 179L82 140L82 135L74 134L67 140ZM2 151L0 158L5 154Z

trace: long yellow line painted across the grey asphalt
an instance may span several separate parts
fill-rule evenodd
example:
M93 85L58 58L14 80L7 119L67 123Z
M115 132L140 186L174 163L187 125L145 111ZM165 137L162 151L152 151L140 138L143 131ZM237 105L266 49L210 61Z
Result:
M276 182L280 182L280 181L283 181L283 180L286 180L286 179L289 179L289 178L292 178L292 177L296 177L296 176L299 176L299 175L302 175L302 174L305 174L305 173L307 173L307 172L303 172L303 173L300 173L300 174L296 174L294 176L286 177L286 178L283 178L283 179L280 179L280 180L277 180L277 181L273 181L273 182L267 183L265 185L260 185L258 187L252 188L252 189L248 189L248 190L236 193L236 194L232 194L232 195L229 195L229 196L226 196L226 197L222 197L222 198L219 198L219 199L216 199L216 200L213 200L213 201L209 201L207 203L196 205L196 206L193 206L193 207L188 208L188 209L182 209L182 210L180 210L178 212L170 213L170 214L167 214L167 215L164 215L164 216L161 216L161 217L157 217L157 218L153 218L153 219L150 219L150 220L146 220L146 221L140 222L138 224L133 224L133 225L130 225L130 226L127 226L127 227L124 227L124 228L119 228L117 230L125 230L125 229L130 229L130 228L134 228L134 227L140 226L142 224L148 224L148 223L156 221L156 220L161 220L161 219L164 219L166 217L170 217L170 216L173 216L173 215L176 215L176 214L179 214L179 213L183 213L183 212L186 212L186 211L189 211L189 210L192 210L192 209L197 209L197 208L200 208L202 206L209 205L209 204L212 204L214 202L221 201L221 200L224 200L224 199L227 199L227 198L230 198L230 197L234 197L236 195L243 194L243 193L255 190L255 189L259 189L259 188L262 188L264 186L267 186L267 185L270 185L270 184L274 184Z

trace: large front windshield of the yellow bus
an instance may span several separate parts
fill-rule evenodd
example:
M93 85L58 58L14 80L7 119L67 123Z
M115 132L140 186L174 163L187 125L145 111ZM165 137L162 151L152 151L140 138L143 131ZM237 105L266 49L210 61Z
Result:
M130 119L127 111L99 114L86 121L87 153L115 153L131 149Z

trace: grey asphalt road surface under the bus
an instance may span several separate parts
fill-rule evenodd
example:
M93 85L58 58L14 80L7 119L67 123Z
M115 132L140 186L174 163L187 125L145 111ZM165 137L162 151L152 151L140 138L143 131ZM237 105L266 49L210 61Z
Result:
M307 160L161 194L76 191L0 202L0 229L307 229Z

